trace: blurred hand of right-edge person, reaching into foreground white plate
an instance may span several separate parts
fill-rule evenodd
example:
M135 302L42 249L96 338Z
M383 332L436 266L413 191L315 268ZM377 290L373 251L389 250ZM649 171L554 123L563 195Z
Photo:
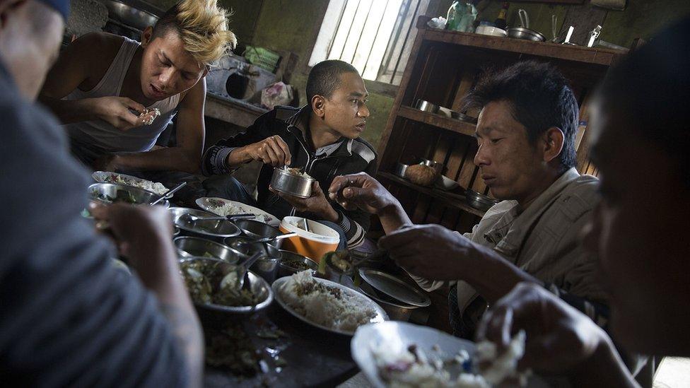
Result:
M592 319L534 283L518 283L498 300L484 314L477 336L504 348L520 330L528 339L520 368L563 372L612 346Z

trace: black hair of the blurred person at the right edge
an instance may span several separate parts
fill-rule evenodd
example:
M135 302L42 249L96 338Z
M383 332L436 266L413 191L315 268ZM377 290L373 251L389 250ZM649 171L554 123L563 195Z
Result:
M665 29L614 66L598 90L600 109L662 149L690 187L690 18ZM592 149L592 158L606 150Z

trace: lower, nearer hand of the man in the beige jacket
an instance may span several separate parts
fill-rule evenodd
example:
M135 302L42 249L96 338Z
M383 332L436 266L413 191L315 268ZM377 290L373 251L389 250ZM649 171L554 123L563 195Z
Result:
M412 225L379 240L395 262L409 273L433 280L457 280L465 258L477 247L467 238L440 225Z

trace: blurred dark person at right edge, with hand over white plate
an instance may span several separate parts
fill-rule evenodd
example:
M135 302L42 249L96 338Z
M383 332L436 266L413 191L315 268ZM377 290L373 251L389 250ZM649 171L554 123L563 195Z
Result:
M611 332L626 350L690 355L690 19L610 71L592 112L602 202L585 245L600 257ZM485 315L479 337L525 329L523 368L570 372L580 387L634 387L612 340L542 288L520 283Z

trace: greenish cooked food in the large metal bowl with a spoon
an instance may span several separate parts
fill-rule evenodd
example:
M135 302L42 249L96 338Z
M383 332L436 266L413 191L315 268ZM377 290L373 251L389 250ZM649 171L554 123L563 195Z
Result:
M201 305L223 305L230 307L254 306L259 303L257 295L251 290L235 287L237 273L223 274L219 268L222 262L194 260L180 264L182 277L194 302Z

